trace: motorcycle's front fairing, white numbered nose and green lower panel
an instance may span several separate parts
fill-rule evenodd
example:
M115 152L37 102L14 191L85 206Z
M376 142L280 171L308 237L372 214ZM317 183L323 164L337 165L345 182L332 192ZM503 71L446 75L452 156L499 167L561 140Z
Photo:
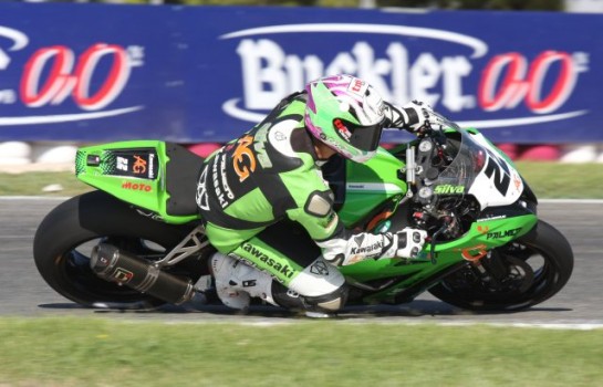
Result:
M439 144L445 144L447 157L437 150ZM398 293L412 289L418 294L424 290L422 284L433 285L439 273L465 260L484 257L490 249L523 236L538 221L531 211L511 211L523 190L529 188L512 163L478 130L451 124L445 135L419 138L410 144L413 147L416 148L417 168L413 201L419 207L430 208L437 216L438 209L443 209L441 213L446 209L467 209L464 206L472 199L465 199L472 197L480 211L471 216L482 218L468 222L467 229L458 237L429 241L417 259L366 260L341 268L352 283L382 285L364 300L366 302L394 300ZM392 282L386 282L388 280Z

